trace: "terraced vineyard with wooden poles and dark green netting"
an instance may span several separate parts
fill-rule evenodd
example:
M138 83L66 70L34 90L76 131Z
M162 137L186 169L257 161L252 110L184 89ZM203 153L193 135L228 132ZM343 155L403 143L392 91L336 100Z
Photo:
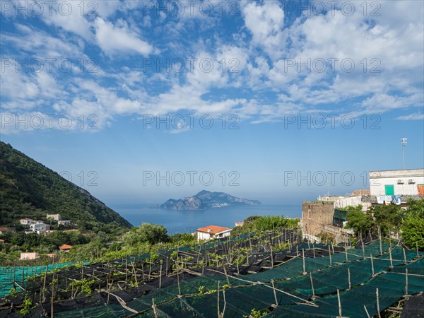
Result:
M356 247L356 248L355 248ZM108 262L2 268L0 317L372 317L424 290L418 249L251 232Z

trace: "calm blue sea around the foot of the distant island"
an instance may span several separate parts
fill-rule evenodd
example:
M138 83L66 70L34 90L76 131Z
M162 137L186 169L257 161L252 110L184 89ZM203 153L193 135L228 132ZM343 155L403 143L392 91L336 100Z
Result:
M302 204L261 204L259 206L225 206L208 210L163 210L150 205L112 206L134 226L142 223L162 225L168 235L195 232L196 228L218 225L232 228L248 216L285 216L300 218Z

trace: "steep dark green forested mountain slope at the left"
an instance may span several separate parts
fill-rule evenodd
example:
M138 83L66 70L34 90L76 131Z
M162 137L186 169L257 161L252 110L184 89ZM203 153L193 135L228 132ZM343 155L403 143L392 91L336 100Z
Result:
M132 227L86 190L0 141L0 225L56 213L84 229L96 223Z

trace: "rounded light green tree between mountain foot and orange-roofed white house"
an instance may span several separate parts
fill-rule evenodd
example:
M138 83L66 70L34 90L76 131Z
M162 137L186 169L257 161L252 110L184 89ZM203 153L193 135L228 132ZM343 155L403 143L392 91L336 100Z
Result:
M143 223L138 228L132 228L131 231L126 232L122 237L127 244L134 246L139 242L148 242L155 244L158 242L167 242L169 237L167 231L163 226L151 223Z

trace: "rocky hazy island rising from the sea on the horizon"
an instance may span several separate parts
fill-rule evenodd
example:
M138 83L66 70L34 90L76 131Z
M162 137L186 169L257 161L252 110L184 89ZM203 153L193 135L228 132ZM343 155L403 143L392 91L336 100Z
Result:
M208 208L221 208L223 206L258 206L261 202L230 196L224 192L210 192L202 190L194 196L184 199L169 199L160 208L167 210L206 210Z

